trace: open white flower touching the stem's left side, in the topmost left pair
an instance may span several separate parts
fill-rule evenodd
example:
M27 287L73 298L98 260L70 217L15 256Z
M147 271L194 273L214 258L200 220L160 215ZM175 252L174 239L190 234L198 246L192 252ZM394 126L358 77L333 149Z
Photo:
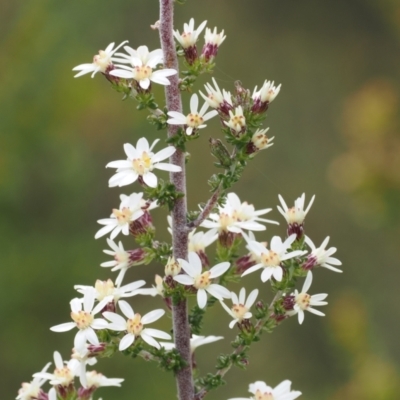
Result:
M118 68L110 71L110 75L124 79L134 79L144 90L149 88L150 81L160 85L169 85L170 81L167 77L175 75L177 71L169 68L153 71L161 60L162 58L160 59L160 53L158 51L149 52L146 46L140 46L136 51L136 56L131 55L129 58L132 67L117 65ZM126 61L122 60L122 62Z

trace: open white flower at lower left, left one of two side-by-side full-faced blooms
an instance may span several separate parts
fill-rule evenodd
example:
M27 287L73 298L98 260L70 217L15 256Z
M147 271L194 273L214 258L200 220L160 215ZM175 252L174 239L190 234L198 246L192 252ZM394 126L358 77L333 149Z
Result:
M74 347L78 351L83 351L85 349L86 341L91 344L99 344L99 339L94 329L105 329L107 327L107 321L102 318L94 318L94 316L104 308L108 303L108 299L103 299L93 308L94 301L95 293L93 291L86 292L83 299L72 299L70 301L72 310L71 318L74 322L56 325L51 327L50 330L53 332L66 332L75 327L78 328L74 340Z

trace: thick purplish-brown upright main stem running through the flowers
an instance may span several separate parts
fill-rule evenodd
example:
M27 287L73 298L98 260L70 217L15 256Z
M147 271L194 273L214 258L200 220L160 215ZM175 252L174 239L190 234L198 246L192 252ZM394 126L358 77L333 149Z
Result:
M169 111L182 112L182 100L179 90L179 65L173 36L174 1L160 0L160 41L164 54L164 66L177 71L170 77L171 84L165 87L166 105ZM168 137L176 135L178 126L168 125ZM185 154L179 149L171 156L170 162L179 165L182 172L170 173L170 180L177 191L184 196L177 200L172 210L172 240L175 259L188 256L188 234L186 228L186 171ZM176 374L179 400L193 400L194 386L190 352L190 327L187 300L181 300L172 306L173 329L176 349L186 361L186 367Z

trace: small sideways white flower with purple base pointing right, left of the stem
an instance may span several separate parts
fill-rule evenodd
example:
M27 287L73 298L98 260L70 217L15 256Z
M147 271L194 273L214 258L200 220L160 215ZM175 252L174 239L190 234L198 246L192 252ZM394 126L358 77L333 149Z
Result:
M118 245L107 238L107 243L112 250L103 250L104 253L114 257L112 261L106 261L100 264L102 267L112 267L111 271L120 271L115 284L119 287L124 279L126 271L133 265L144 263L145 251L141 248L125 251L122 242Z

